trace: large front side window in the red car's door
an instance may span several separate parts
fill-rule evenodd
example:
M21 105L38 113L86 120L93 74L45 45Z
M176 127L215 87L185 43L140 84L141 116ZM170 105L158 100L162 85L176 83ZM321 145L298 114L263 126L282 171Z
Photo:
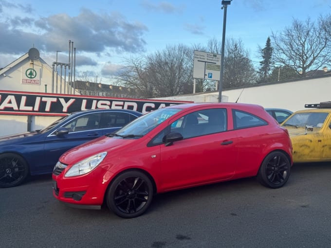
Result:
M171 132L179 132L184 139L225 131L226 109L211 108L189 113L171 124Z

